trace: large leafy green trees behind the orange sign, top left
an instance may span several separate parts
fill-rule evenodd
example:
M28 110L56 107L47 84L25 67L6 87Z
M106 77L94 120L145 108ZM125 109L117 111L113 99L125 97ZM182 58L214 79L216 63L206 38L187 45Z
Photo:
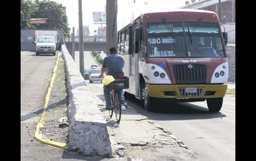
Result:
M29 1L30 5L26 5ZM24 6L22 6L24 5ZM61 29L63 28L64 36L69 36L70 28L68 27L67 16L64 13L62 4L53 1L39 1L35 0L32 3L31 0L21 0L21 9L28 8L28 10L23 10L23 12L32 10L33 12L28 12L23 15L29 15L28 18L48 18L45 24L28 24L25 26L21 23L21 29ZM22 10L21 10L22 13ZM22 14L21 14L22 17ZM23 25L23 26L22 26Z

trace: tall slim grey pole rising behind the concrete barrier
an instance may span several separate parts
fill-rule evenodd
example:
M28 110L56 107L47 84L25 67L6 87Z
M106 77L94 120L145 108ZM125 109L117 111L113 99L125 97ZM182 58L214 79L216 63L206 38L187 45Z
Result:
M82 0L78 0L78 15L79 15L79 66L80 66L80 73L84 77Z

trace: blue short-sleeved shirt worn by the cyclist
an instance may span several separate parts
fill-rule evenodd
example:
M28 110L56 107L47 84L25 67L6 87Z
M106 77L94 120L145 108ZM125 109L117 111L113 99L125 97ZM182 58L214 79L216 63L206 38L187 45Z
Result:
M114 78L119 78L119 74L124 74L124 56L111 54L104 58L102 68L107 68L107 74L114 74Z

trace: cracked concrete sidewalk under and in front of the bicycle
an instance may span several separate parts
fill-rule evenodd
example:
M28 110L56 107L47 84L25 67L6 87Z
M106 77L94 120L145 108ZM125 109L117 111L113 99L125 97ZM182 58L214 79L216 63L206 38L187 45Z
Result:
M113 114L109 117L108 110L104 109L104 102L95 97L102 115L107 121L114 158L127 160L198 160L198 154L147 117L141 115L131 107L122 110L121 121L118 123Z

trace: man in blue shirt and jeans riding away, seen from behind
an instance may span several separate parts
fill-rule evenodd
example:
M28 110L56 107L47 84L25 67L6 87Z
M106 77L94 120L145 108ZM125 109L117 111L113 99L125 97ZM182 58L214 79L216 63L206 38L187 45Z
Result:
M101 74L99 77L102 77L106 68L107 75L112 75L115 80L123 79L124 77L124 56L118 55L117 48L115 46L110 47L110 55L106 56L102 63ZM111 103L111 90L107 90L104 86L103 92L106 101L107 110L112 109ZM124 104L124 89L121 90L121 105Z

